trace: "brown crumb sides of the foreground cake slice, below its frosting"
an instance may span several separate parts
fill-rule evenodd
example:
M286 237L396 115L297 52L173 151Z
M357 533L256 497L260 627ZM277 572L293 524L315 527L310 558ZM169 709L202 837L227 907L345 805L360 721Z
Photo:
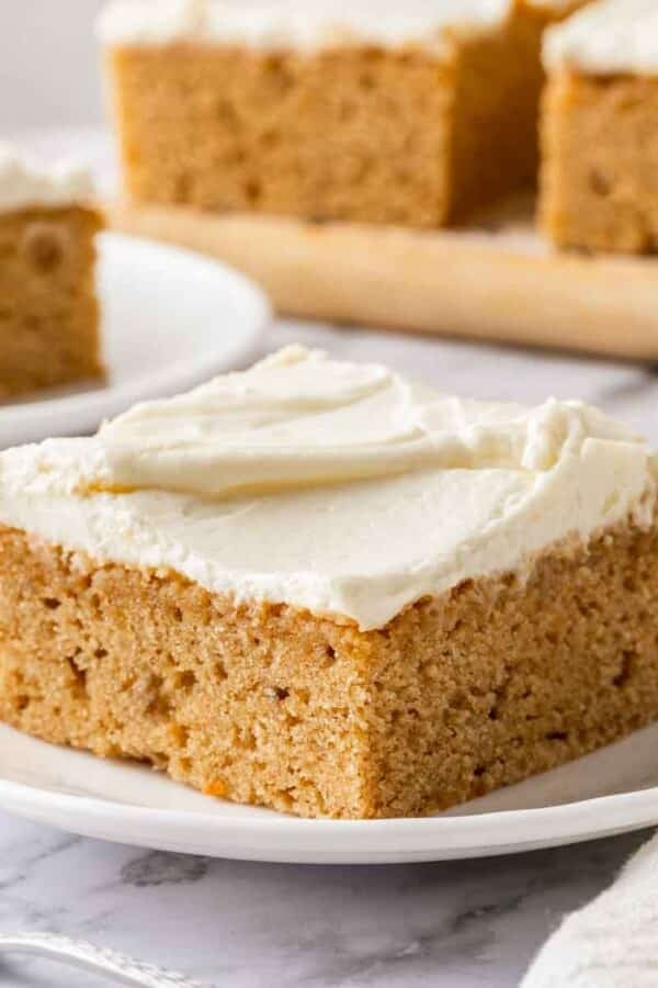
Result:
M239 802L428 813L658 717L657 561L619 525L361 632L4 527L0 717Z

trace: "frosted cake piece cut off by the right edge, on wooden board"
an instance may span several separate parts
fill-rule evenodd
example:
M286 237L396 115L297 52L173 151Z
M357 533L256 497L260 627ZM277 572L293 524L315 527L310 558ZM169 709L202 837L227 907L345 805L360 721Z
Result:
M599 0L553 29L541 218L558 247L658 248L658 5Z

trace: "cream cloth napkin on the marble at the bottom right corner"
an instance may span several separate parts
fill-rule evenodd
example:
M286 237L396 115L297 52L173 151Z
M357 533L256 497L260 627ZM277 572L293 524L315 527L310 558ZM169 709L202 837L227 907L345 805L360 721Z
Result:
M658 834L567 917L520 988L658 988Z

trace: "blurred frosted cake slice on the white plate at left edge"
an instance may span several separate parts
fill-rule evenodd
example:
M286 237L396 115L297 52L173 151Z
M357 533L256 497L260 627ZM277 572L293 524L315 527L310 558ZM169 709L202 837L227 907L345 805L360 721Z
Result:
M102 374L89 175L0 145L0 398Z

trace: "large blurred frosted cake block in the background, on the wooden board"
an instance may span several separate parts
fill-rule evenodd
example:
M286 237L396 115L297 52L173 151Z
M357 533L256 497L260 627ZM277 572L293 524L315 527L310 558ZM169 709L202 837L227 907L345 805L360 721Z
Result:
M138 203L436 227L536 173L541 36L583 0L120 0Z

